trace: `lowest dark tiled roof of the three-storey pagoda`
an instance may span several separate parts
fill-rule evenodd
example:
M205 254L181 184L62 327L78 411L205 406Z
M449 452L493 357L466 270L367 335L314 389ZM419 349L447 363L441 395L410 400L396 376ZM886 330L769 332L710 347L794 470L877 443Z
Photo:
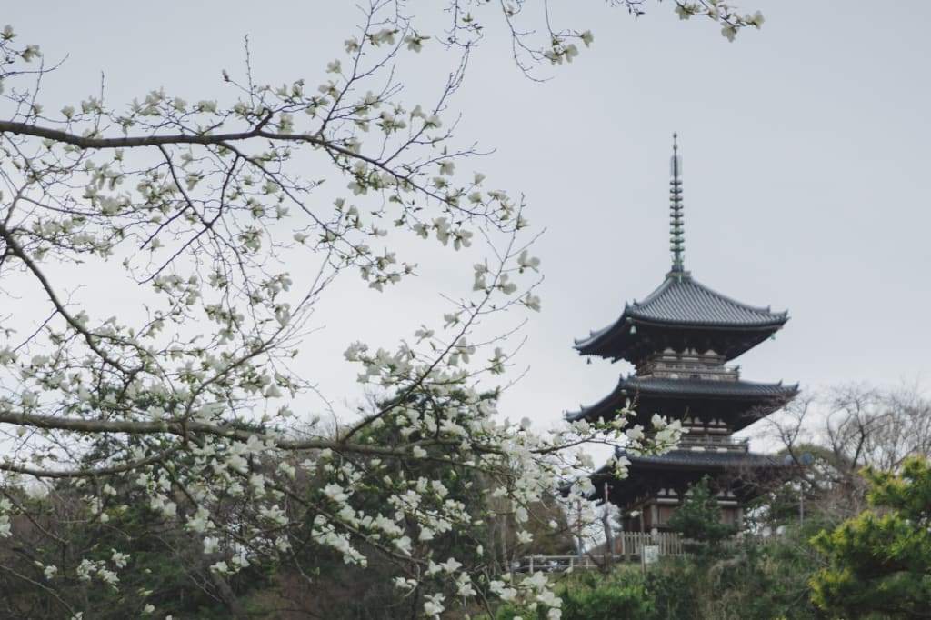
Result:
M779 478L788 466L776 457L742 451L695 451L677 449L654 456L637 456L618 449L618 457L626 457L627 478L617 478L607 466L592 474L595 493L592 499L603 501L604 484L608 483L610 499L617 505L628 505L644 494L662 488L684 490L702 477L730 479L728 485L741 500L757 496L761 483Z

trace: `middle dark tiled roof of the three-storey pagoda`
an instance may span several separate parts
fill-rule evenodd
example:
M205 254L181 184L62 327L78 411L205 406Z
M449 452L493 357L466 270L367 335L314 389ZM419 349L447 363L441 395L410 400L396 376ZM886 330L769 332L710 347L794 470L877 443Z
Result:
M799 386L759 384L749 381L621 377L614 391L594 405L566 413L566 419L611 420L616 411L630 406L637 412L631 421L646 425L654 412L682 415L687 410L708 410L716 416L733 417L735 430L769 415L798 394ZM682 405L685 405L683 408ZM661 410L661 411L657 411ZM675 410L675 411L668 411Z

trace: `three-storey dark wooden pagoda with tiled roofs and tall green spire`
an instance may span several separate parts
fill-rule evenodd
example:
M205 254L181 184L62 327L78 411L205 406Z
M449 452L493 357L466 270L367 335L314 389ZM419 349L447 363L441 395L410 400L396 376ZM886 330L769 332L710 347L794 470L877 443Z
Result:
M786 405L798 384L744 381L739 367L728 362L773 337L789 320L788 312L755 307L711 290L684 266L681 159L673 134L670 185L672 268L662 284L603 330L575 341L583 356L599 356L632 364L614 391L569 421L609 421L619 410L633 413L628 425L652 431L654 413L680 420L679 446L646 456L624 448L617 456L629 461L627 478L604 466L592 477L593 499L621 508L624 529L666 530L668 518L690 485L708 476L722 508L722 520L738 525L749 499L759 495L767 478L783 466L776 459L749 452L746 439L734 433ZM631 513L642 516L634 519Z

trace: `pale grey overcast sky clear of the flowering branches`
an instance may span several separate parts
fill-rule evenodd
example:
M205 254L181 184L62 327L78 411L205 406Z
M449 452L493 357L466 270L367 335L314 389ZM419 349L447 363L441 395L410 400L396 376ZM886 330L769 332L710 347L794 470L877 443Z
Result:
M595 42L572 65L547 69L544 83L519 74L493 28L475 55L453 101L458 133L496 150L477 168L523 192L531 222L546 228L535 249L543 312L525 330L518 361L529 371L502 401L511 417L559 424L630 371L587 365L573 338L613 322L668 271L673 131L686 267L740 301L789 310L776 341L735 362L745 379L931 383L931 3L740 6L766 21L728 43L707 20L679 20L668 2L634 20L598 0L553 0L552 19L591 29ZM79 101L102 72L116 104L159 87L189 101L222 96L219 72L241 68L246 34L259 81L319 81L358 15L349 3L258 7L22 2L7 3L2 19L47 59L68 56L47 82L49 99ZM443 273L433 267L440 276L425 269L420 289L385 295L374 321L351 302L355 285L334 290L313 344L319 359L339 356L357 331L384 344L408 335L410 307Z

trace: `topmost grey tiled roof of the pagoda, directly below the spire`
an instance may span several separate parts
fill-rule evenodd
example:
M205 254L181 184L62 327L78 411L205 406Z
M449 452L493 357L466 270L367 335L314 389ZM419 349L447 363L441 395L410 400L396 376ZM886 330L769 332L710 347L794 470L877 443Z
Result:
M635 362L646 351L638 330L631 328L644 326L653 331L703 331L709 346L717 346L715 350L730 359L762 342L788 320L788 311L773 312L769 307L738 302L709 289L688 272L672 271L646 299L625 304L614 323L576 340L575 348L582 355Z

